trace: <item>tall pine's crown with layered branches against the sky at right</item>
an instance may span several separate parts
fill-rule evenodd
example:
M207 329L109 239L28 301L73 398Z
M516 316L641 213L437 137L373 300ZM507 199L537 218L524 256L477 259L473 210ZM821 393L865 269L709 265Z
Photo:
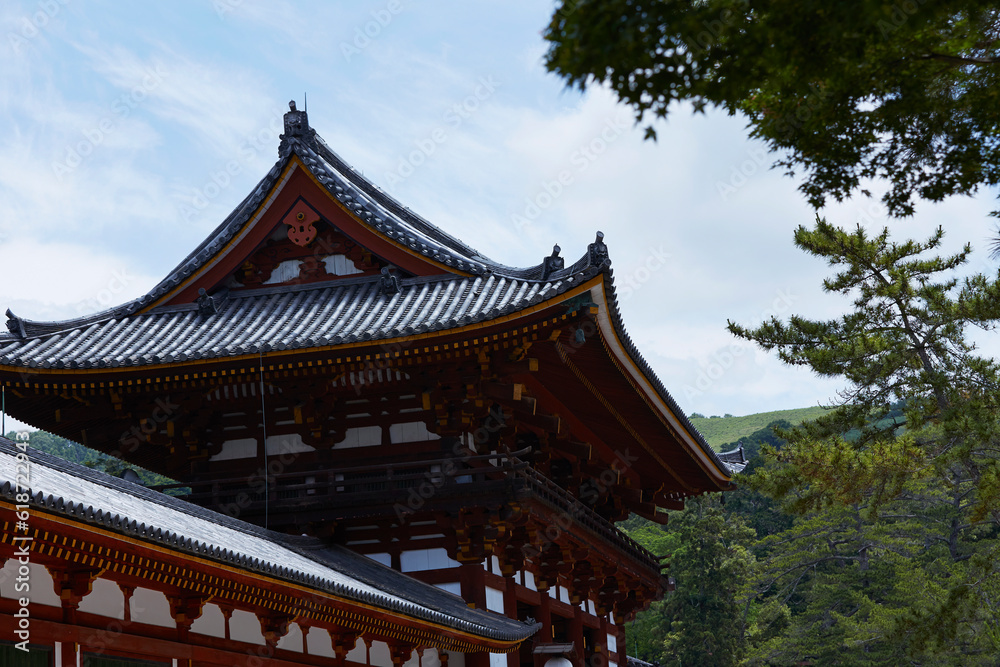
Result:
M852 296L854 310L827 322L775 318L754 330L730 323L735 335L777 350L786 363L850 383L836 410L784 434L792 446L775 456L789 465L760 475L774 495L797 489L799 509L870 496L874 511L907 479L951 471L956 483L976 478L977 499L989 501L978 518L995 509L1000 369L974 353L965 332L970 324L994 328L1000 281L938 278L969 252L922 257L942 234L896 244L887 231L869 239L860 227L847 233L822 220L811 231L800 227L797 245L843 267L824 288ZM900 403L903 419L887 419ZM852 429L858 436L848 443L842 434Z

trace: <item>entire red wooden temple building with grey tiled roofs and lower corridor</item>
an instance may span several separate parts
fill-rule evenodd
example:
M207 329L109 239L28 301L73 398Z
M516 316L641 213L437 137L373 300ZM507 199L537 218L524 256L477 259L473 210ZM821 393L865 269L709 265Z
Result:
M669 580L614 522L729 488L741 455L712 451L632 344L600 232L573 262L498 264L290 106L274 167L148 294L64 322L7 311L8 412L185 494L31 452L32 567L58 594L38 640L76 664L91 596L124 596L124 619L145 591L160 624L104 654L624 667L622 624ZM0 463L2 561L16 445ZM230 624L251 616L243 646Z

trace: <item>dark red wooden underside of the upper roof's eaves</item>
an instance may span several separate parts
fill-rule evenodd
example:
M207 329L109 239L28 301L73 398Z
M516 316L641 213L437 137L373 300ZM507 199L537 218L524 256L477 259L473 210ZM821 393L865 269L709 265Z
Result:
M262 380L265 403L297 415L291 423L287 414L268 415L269 435L308 431L304 435L313 434L316 442L304 439L321 447L343 435L347 401L370 391L395 391L414 397L401 409L422 410L412 419L443 435L475 430L488 417L489 406L499 405L527 430L575 452L576 458L614 466L623 486L633 487L643 503L670 507L687 495L724 488L727 477L706 470L704 461L691 455L684 435L628 382L600 337L578 341L575 332L586 328L587 315L558 312L520 318L514 322L519 328L498 323L378 347L269 353L238 363L146 372L48 371L24 381L8 376L9 409L26 423L184 479L192 472L186 461L211 456L209 444L217 453L222 430L242 426L243 437L259 435ZM537 371L528 368L528 358L536 359ZM388 379L391 373L402 384L380 387L377 376ZM427 400L437 407L425 405ZM445 414L438 414L442 409ZM227 413L243 417L223 423ZM584 446L589 449L581 453Z

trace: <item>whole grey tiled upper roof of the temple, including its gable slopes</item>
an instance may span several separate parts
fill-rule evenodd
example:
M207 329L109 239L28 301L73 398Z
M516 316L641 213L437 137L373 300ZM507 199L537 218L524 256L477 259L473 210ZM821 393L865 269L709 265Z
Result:
M404 278L398 293L379 277L239 290L216 297L217 312L194 303L153 304L202 269L252 224L252 217L299 160L363 224L452 270ZM721 463L653 372L625 329L603 234L576 262L546 257L515 268L494 262L382 192L334 153L302 111L285 115L279 159L232 213L147 294L115 308L63 322L33 322L8 311L0 333L0 365L15 368L100 369L181 363L268 350L375 342L487 322L557 297L603 275L608 314L625 353L709 458ZM465 274L465 275L463 275ZM141 311L141 312L140 312ZM725 465L727 470L734 468Z

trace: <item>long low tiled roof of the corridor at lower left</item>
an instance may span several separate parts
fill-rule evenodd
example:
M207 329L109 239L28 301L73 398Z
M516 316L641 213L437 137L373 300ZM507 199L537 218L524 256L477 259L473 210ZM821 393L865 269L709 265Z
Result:
M14 499L16 445L0 437L0 494ZM275 533L28 449L32 504L133 538L497 641L538 625L472 609L458 596L346 547Z

